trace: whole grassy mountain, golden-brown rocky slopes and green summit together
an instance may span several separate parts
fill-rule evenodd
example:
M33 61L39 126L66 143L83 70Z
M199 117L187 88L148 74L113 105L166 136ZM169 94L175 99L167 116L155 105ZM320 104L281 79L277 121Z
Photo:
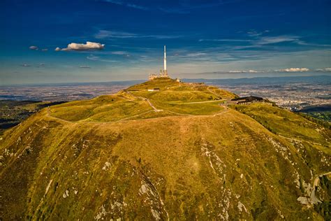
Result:
M1 138L1 218L328 219L330 130L233 97L160 78L44 108Z

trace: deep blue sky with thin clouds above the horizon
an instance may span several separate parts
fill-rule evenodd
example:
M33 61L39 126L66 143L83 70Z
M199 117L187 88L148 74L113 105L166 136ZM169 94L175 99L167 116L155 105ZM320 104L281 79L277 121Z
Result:
M330 9L327 0L4 0L0 84L145 79L163 68L163 45L173 77L330 75Z

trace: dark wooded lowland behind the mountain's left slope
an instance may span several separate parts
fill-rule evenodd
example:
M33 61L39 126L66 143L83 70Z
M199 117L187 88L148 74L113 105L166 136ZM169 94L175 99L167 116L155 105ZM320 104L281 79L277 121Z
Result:
M0 101L0 135L10 127L14 127L27 117L36 113L45 106L52 106L64 102L42 102L42 101Z

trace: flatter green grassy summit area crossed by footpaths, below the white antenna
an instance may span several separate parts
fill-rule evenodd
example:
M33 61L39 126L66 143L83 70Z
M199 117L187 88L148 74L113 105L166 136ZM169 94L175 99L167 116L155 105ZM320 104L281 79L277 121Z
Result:
M159 92L148 91L156 87L160 89ZM223 110L219 106L223 102L221 99L233 97L234 94L215 87L177 83L175 80L161 78L128 87L127 90L114 95L54 106L50 108L50 115L71 122L114 122L177 114L206 115ZM156 108L164 109L165 113L149 113L153 108L146 99Z

